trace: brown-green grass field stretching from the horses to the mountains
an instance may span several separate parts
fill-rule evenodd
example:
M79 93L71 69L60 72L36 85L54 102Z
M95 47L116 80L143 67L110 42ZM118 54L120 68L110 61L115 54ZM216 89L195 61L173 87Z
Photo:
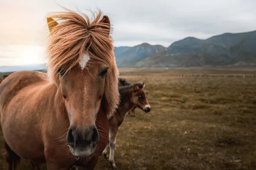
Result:
M136 109L119 128L119 170L255 170L256 78L170 77L170 74L253 74L254 69L128 70L145 82L151 112ZM0 153L4 153L2 143ZM4 154L0 164L5 168ZM23 170L30 170L23 164ZM1 169L1 168L0 168ZM110 170L100 157L96 170Z

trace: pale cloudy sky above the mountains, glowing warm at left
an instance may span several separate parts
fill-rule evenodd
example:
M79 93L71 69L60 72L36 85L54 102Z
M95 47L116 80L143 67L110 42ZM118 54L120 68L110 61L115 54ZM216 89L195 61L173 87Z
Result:
M0 66L46 62L46 17L63 11L57 3L89 15L86 9L101 9L115 46L168 47L185 37L256 30L256 0L1 0Z

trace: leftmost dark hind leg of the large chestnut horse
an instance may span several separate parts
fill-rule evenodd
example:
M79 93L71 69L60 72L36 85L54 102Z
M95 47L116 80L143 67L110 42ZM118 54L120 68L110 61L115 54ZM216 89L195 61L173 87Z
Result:
M3 144L6 149L5 158L8 164L7 170L16 170L17 164L20 163L20 156L17 156L17 154L11 150L5 139L3 139Z

